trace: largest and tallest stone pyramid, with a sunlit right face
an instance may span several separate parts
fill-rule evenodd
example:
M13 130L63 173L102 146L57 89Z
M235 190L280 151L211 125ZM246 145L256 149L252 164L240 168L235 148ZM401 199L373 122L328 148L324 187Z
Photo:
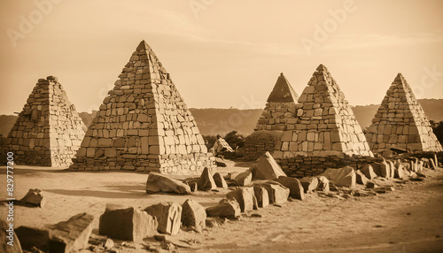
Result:
M197 174L214 166L182 96L146 42L108 94L71 168Z

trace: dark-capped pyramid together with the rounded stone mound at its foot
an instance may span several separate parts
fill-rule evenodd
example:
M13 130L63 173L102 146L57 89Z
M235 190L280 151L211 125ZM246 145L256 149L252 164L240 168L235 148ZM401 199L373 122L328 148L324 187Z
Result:
M276 149L283 131L294 129L296 103L299 96L283 73L268 96L265 109L257 121L254 133L245 140L245 159L255 160ZM289 128L287 128L289 127Z

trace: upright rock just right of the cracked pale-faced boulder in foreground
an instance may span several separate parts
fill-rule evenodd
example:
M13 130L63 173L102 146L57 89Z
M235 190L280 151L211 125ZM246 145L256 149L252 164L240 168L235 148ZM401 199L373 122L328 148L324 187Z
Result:
M198 231L206 227L206 210L197 201L187 199L182 205L183 226L194 226Z

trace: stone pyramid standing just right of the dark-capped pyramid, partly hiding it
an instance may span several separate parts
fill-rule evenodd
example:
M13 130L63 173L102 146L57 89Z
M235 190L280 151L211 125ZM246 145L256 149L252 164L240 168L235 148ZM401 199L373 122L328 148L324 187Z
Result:
M351 106L324 65L299 97L295 130L284 131L277 159L295 156L372 156Z

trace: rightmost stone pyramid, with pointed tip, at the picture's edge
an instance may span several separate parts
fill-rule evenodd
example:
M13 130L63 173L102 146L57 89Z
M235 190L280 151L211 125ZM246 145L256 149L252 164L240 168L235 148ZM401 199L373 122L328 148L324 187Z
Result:
M399 73L387 90L366 133L374 152L390 147L413 151L442 151L422 106L408 82Z

